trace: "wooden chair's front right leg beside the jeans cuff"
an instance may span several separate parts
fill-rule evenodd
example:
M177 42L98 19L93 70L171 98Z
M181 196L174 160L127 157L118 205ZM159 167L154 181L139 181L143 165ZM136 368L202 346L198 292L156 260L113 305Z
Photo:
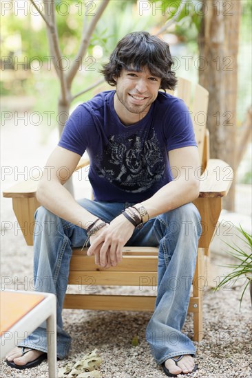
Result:
M203 304L203 293L202 285L200 285L200 280L204 278L202 276L203 269L202 263L204 260L203 250L198 249L196 270L193 278L193 297L198 298L198 305L196 311L193 311L193 340L200 342L204 336L203 332L203 314L202 314L202 304Z

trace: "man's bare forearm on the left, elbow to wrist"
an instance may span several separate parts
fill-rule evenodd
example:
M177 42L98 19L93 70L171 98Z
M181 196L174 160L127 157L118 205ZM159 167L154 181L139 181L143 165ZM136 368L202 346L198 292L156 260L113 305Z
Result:
M45 208L74 225L87 228L97 216L78 205L70 192L57 181L39 185L36 197Z

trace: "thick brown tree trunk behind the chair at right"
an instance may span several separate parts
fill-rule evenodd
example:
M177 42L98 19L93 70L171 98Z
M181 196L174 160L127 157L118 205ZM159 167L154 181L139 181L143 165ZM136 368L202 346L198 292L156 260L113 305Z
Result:
M199 82L209 91L210 157L224 160L235 172L241 1L203 0L202 3L204 16L198 38ZM226 177L229 179L228 170ZM234 200L235 178L224 208L233 211Z

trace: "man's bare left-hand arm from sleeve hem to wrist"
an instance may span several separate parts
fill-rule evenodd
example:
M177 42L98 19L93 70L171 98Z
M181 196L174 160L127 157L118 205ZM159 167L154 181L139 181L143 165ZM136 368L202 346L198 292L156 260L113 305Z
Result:
M77 153L56 146L45 165L36 197L50 212L74 225L87 228L97 216L78 205L63 186L72 176L80 159L81 156Z

